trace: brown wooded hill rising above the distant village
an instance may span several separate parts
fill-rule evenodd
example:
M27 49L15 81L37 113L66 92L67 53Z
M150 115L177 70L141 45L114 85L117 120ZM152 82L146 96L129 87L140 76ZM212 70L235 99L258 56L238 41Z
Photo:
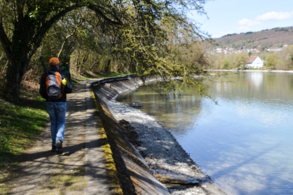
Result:
M257 48L265 51L268 48L276 49L283 45L293 45L293 26L259 32L228 34L214 40L222 48L229 47L236 50Z

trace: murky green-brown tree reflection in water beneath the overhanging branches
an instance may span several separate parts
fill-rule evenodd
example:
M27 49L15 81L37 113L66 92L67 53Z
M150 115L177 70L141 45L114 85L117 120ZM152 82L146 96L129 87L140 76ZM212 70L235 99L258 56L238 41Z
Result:
M185 127L192 124L201 112L201 97L192 89L184 90L180 96L170 95L168 99L165 97L151 88L141 87L134 92L119 96L117 101L142 102L144 112L161 121L168 129L176 128L176 131L180 131L182 134L183 131L188 130ZM176 134L176 132L173 133Z

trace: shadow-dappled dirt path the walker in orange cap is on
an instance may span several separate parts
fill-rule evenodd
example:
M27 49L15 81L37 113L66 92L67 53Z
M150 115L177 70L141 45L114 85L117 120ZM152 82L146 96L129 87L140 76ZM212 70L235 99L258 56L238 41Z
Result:
M97 111L89 82L74 86L67 96L63 154L51 152L49 123L34 147L26 151L13 182L15 195L109 195Z

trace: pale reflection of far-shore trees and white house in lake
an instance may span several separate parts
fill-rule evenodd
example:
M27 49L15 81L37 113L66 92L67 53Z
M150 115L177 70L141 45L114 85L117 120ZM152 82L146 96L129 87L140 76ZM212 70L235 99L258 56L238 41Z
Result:
M270 99L292 100L293 75L271 72L240 72L223 79L231 82L218 82L214 89L223 98L265 101ZM210 91L210 93L213 93Z

